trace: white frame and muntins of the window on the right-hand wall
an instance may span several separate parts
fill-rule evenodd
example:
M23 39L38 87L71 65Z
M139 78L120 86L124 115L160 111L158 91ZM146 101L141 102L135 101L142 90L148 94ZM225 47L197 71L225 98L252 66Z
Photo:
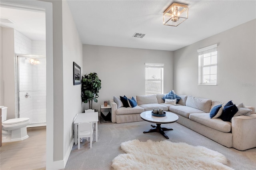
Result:
M201 48L201 49L198 49L197 50L198 52L198 85L217 85L217 65L218 65L218 50L217 50L217 44L214 44L214 45L210 45L208 47L204 47L204 48ZM212 53L216 52L216 63L212 64L207 64L207 65L204 65L204 54L208 54L210 53L210 56L211 59L212 59ZM204 82L204 67L212 67L212 66L216 66L216 82L209 82L209 83L205 83ZM211 74L209 73L209 75L215 75L215 74Z

